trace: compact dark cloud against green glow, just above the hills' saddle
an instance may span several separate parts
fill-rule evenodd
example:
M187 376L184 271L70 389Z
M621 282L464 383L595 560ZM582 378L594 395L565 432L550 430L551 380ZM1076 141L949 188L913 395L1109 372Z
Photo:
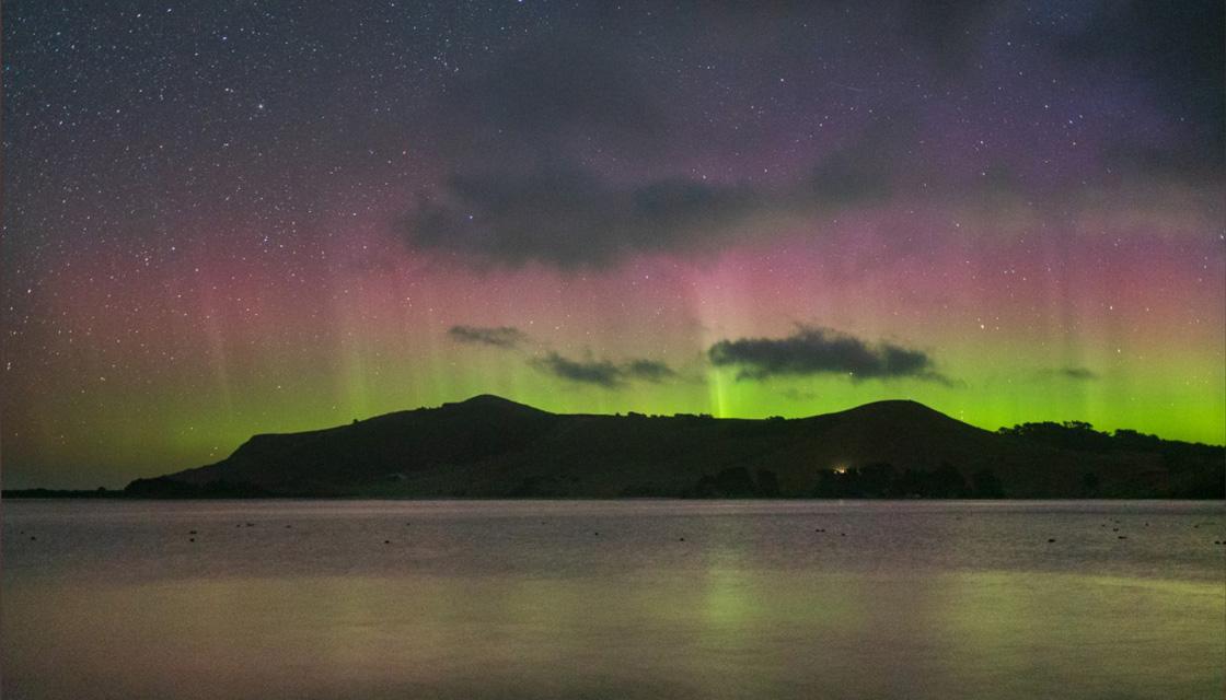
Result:
M845 374L853 380L912 378L949 382L923 351L889 342L868 343L814 326L802 325L785 338L720 341L707 356L717 367L738 368L738 379Z

